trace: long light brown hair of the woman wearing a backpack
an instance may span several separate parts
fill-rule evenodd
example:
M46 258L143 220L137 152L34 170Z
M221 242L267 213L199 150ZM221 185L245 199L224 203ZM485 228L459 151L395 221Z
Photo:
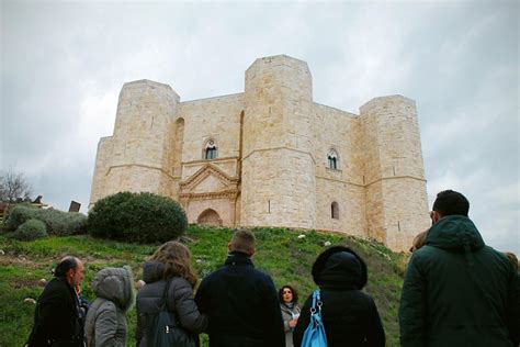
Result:
M194 288L197 281L195 270L190 262L190 249L177 240L169 240L162 244L150 260L165 265L165 278L179 276L188 280Z

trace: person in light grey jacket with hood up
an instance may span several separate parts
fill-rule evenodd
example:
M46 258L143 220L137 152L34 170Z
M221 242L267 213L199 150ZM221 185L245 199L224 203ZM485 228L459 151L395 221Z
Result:
M97 299L90 305L84 323L87 346L126 346L126 314L135 302L131 267L100 270L92 281L92 290Z

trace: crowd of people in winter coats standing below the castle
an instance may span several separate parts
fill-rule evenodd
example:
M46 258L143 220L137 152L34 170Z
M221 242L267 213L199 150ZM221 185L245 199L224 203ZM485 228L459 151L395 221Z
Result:
M520 344L518 259L486 246L468 210L461 193L440 192L432 226L414 239L399 305L402 346ZM250 231L237 231L227 248L223 267L197 287L188 247L167 242L145 262L137 295L129 267L105 268L92 281L97 299L91 304L79 294L82 261L65 257L37 301L27 346L126 346L134 303L138 347L157 346L161 311L192 346L199 346L201 333L212 347L302 346L313 296L299 306L294 286L276 291L271 277L255 268ZM354 250L327 248L312 277L320 290L327 346L385 346L376 304L363 291L368 267Z

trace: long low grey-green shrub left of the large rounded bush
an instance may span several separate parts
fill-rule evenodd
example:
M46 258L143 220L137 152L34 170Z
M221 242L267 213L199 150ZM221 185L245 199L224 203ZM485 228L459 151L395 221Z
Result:
M47 233L57 236L82 234L87 230L87 216L78 212L63 212L59 210L34 209L16 205L9 212L5 221L8 230L15 230L29 220L38 220L45 223Z

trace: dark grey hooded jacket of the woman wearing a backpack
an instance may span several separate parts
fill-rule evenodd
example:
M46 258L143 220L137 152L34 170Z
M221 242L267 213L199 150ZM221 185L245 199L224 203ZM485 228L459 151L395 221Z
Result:
M143 280L146 284L137 293L137 346L147 347L147 336L150 316L157 314L162 304L162 294L167 280L163 277L165 265L158 261L147 261L143 268ZM191 334L206 329L207 317L199 312L193 298L193 287L182 277L172 277L167 294L167 307L176 313L180 325ZM197 342L199 338L195 338Z

